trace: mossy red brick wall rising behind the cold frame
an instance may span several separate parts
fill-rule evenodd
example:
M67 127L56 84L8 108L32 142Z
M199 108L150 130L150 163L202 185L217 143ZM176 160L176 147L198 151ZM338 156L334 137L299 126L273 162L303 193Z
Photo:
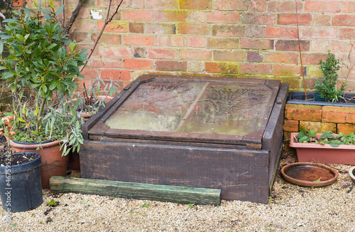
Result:
M70 16L78 0L65 0ZM60 1L55 1L59 6ZM113 7L119 0L113 0ZM346 57L355 39L355 1L299 1L306 85L320 77L327 50ZM102 28L107 0L87 0L72 38L89 48ZM102 19L100 19L102 17ZM300 90L295 1L125 0L84 69L127 85L144 73L270 78ZM355 51L353 53L355 62ZM340 73L341 78L344 75ZM347 80L355 90L355 73Z

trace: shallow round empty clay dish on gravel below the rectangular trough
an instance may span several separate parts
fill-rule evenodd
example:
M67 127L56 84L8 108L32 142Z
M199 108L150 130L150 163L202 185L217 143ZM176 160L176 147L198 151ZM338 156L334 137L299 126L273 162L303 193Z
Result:
M327 186L338 178L337 170L332 167L306 162L285 165L281 174L290 183L305 187Z

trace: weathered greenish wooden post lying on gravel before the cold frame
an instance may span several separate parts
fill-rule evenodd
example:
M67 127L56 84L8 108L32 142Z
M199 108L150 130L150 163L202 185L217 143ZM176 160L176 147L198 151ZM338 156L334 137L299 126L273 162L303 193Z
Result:
M151 201L170 201L181 204L218 206L221 203L221 189L140 184L62 176L52 176L50 178L50 190L59 193L97 194Z

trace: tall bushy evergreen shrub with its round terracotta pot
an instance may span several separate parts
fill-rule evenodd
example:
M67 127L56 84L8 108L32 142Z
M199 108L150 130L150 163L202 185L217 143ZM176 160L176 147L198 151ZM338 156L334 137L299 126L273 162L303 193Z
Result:
M55 12L51 6L48 11L38 4L36 11L14 11L16 18L6 19L0 33L1 53L3 46L9 49L9 56L0 58L1 78L11 87L17 106L11 149L40 153L43 188L49 187L50 176L65 175L66 154L82 143L77 104L68 102L77 87L75 79L81 76L78 66L87 58L84 51L75 51L75 41L56 23L62 9Z

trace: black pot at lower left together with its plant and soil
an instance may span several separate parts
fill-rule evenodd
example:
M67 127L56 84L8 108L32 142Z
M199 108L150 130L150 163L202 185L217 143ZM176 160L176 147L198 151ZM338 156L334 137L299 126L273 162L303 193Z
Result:
M0 196L6 212L28 211L43 203L40 179L40 154L11 153L0 137ZM8 215L6 214L6 217Z

